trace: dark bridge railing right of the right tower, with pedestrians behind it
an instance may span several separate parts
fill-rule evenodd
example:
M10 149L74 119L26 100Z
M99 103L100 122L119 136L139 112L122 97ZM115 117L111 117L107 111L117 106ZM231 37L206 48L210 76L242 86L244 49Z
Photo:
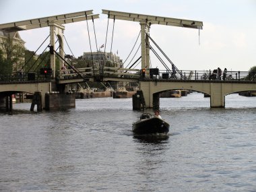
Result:
M232 81L253 81L256 82L256 73L249 71L222 71L218 73L216 70L181 70L183 77L179 73L168 73L161 71L159 75L151 75L155 79L183 79L183 80L232 80Z

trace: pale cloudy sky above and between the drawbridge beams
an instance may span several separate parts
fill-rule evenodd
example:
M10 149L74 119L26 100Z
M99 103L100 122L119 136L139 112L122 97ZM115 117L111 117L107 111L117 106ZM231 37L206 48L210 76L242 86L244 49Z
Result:
M90 42L92 51L97 50L96 41L98 47L105 44L108 19L102 9L107 9L203 22L200 32L174 26L152 25L150 28L150 36L180 70L203 71L218 67L223 70L226 67L228 71L248 71L256 65L256 0L0 0L0 24L91 9L94 14L100 14L94 21L96 40L91 20L66 24L64 34L71 49L65 43L66 54L79 57L90 52ZM125 66L133 63L141 55L140 50L135 55L140 43L139 38L135 44L139 31L137 22L116 20L113 32L113 20L109 20L106 52L110 52L113 33L111 51L116 55L118 52L123 61L127 60ZM48 35L48 27L20 32L30 51L36 51ZM152 67L164 69L152 52L150 60ZM171 68L170 63L164 61Z

